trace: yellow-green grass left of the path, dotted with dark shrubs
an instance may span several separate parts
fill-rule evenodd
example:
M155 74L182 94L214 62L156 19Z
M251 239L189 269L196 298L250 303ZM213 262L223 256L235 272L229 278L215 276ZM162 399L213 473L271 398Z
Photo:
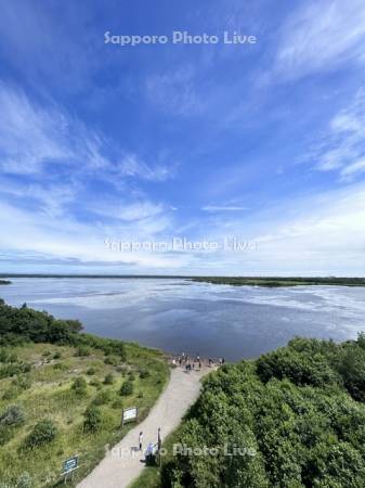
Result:
M90 356L82 357L70 346L29 343L11 349L31 368L29 373L17 375L26 376L27 388L14 384L21 380L16 376L0 380L0 414L13 404L25 413L25 423L14 428L13 437L0 446L0 486L2 483L16 487L26 472L32 487L55 487L62 481L62 462L78 454L80 467L74 476L75 485L104 457L105 446L115 445L133 426L120 427L121 409L139 407L142 421L169 377L162 354L135 344L126 344L127 361L123 363L118 363L116 358L108 361L101 349L91 349ZM114 376L112 385L104 384L108 373ZM82 397L71 389L74 380L80 376L88 383ZM133 394L121 397L120 387L130 377ZM96 396L102 397L102 426L94 434L84 433L83 413ZM47 446L25 450L26 436L41 419L52 419L56 424L56 438Z

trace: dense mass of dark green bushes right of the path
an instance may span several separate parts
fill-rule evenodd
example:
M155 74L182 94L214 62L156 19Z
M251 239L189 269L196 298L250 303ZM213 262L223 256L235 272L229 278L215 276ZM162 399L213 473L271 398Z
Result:
M177 439L218 454L173 457L164 486L365 486L364 352L362 335L342 345L296 338L256 361L221 368L206 380ZM246 454L223 454L234 446Z

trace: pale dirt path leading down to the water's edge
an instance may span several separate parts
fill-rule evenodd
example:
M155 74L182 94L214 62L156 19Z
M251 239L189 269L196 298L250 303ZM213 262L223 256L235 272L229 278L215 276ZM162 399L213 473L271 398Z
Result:
M197 399L200 378L211 369L186 373L181 368L171 371L167 388L159 397L149 415L132 428L103 461L87 476L78 488L127 488L144 467L144 449L148 442L157 442L157 431L161 427L165 439L178 427L188 407ZM136 450L139 433L143 432L143 450Z

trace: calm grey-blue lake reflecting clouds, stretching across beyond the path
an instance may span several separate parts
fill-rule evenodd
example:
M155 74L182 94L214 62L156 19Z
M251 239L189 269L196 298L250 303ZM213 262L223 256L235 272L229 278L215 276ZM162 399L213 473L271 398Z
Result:
M291 337L355 338L365 331L365 287L263 288L183 279L16 278L0 286L10 305L27 303L87 332L166 351L235 361Z

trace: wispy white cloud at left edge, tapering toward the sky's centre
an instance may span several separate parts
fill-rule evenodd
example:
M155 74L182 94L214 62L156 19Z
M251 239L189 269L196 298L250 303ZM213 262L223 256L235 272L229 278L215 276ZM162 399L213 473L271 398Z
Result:
M48 166L61 165L109 181L115 176L165 181L174 175L177 165L148 164L58 105L45 106L3 82L0 113L0 168L4 174L42 174Z

